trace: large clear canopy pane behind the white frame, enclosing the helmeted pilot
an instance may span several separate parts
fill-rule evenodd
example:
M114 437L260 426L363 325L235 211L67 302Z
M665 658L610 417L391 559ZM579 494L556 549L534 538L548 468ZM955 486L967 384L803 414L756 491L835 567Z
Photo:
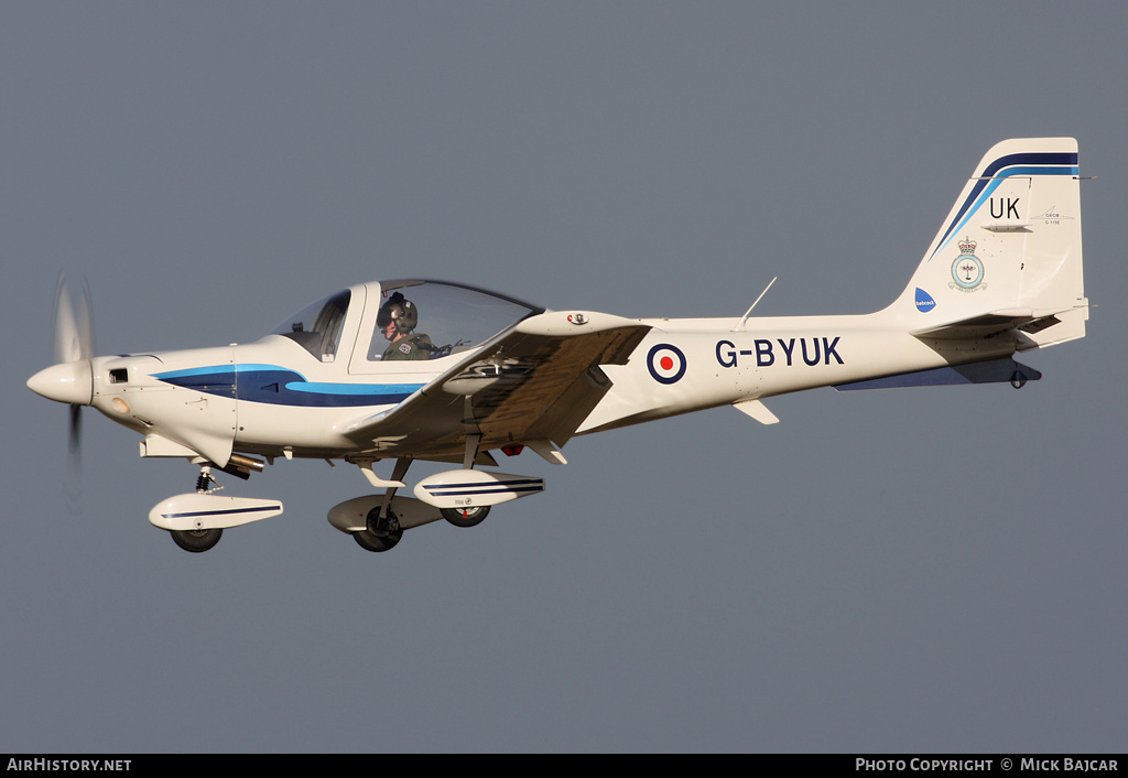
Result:
M544 311L441 281L385 281L379 303L369 361L437 359L466 351Z

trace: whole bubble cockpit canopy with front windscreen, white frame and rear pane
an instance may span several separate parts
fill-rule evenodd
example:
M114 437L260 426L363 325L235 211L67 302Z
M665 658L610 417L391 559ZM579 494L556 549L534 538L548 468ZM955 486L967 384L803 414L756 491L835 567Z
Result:
M402 323L411 325L412 340L418 344L412 358L437 359L473 349L522 318L544 312L510 297L447 281L384 281L365 287L367 300L363 288L355 295L345 289L302 308L271 333L293 340L320 361L332 362L341 348L345 318L354 314L368 330L358 333L356 344L369 343L367 359L378 361L389 346L388 330L380 325L387 325L389 308L397 315L406 308L411 315ZM374 294L377 290L379 294ZM351 312L354 300L365 300L377 311L369 315ZM372 315L376 313L379 315Z

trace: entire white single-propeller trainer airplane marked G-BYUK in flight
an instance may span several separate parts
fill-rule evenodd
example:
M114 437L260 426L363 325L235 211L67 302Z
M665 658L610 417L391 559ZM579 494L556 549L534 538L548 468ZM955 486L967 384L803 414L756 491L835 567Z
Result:
M484 470L497 454L564 465L576 435L723 405L776 423L766 399L821 386L1040 378L1013 357L1083 338L1089 320L1079 182L1072 138L997 143L905 290L864 315L752 317L757 298L743 316L624 318L386 280L329 295L252 343L96 357L89 288L76 314L61 280L56 364L27 385L70 405L73 440L92 405L143 436L141 456L199 467L194 491L149 513L186 551L282 514L275 499L215 493L217 472L248 479L280 457L356 465L382 491L336 505L328 521L387 551L406 530L474 526L544 490L541 478ZM388 477L377 474L385 460ZM398 495L416 460L456 466Z

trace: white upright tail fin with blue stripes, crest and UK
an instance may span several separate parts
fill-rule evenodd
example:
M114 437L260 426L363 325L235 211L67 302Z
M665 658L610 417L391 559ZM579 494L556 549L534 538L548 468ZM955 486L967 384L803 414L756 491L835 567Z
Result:
M1073 138L1005 140L976 167L892 308L914 334L1014 327L1019 349L1085 334Z

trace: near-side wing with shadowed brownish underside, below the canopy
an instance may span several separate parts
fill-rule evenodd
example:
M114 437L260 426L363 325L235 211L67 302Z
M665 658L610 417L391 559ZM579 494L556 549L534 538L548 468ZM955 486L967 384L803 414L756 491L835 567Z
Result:
M461 461L479 451L563 446L611 387L600 365L624 365L650 326L598 313L548 312L518 322L390 411L344 434L378 456Z

